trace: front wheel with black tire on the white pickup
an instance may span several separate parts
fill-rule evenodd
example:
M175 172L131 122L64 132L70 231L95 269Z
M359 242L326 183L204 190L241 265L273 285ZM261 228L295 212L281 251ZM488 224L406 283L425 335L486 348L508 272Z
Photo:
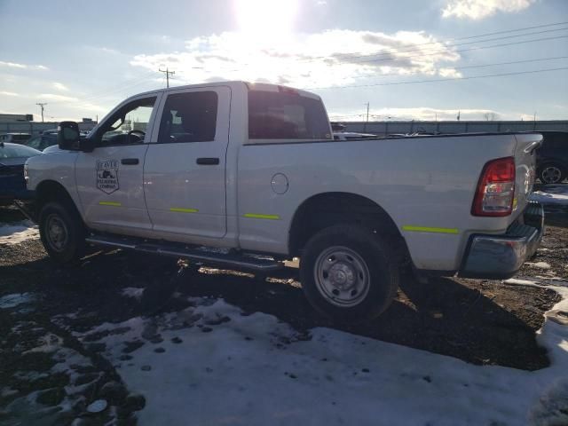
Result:
M75 206L68 202L52 201L43 206L39 234L43 248L59 264L74 263L84 254L85 227Z

